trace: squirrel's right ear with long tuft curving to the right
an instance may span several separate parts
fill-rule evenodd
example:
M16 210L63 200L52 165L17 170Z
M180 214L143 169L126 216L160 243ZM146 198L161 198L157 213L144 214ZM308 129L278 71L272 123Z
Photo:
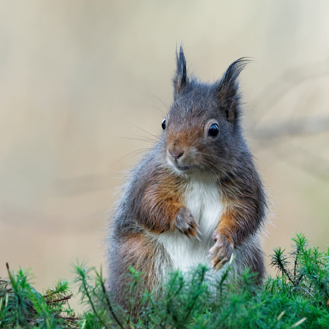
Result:
M238 113L239 105L239 84L237 77L250 62L247 58L240 58L233 62L226 70L219 85L217 85L218 98L221 101L221 108L224 109L226 119L233 122Z

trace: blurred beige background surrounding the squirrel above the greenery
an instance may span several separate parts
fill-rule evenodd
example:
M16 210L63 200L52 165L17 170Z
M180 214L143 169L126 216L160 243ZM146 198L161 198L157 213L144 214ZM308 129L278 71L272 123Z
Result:
M206 81L237 58L254 60L240 81L271 200L266 254L300 231L329 244L328 1L0 8L0 276L6 262L33 268L42 289L71 279L77 259L105 265L107 211L150 147L134 138L161 132L181 40L189 72Z

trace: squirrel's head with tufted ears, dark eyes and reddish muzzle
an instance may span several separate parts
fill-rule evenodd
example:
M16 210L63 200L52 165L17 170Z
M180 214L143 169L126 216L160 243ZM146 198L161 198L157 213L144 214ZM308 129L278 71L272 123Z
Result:
M237 78L248 62L236 60L221 79L206 84L188 76L182 47L176 51L174 101L162 121L166 160L176 172L222 176L238 164L246 147Z

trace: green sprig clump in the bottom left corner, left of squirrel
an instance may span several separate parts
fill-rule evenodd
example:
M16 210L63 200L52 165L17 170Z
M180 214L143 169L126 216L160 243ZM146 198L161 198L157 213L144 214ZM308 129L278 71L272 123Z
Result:
M12 328L78 328L79 318L69 307L69 286L59 281L44 295L30 281L30 271L13 273L0 280L0 327Z

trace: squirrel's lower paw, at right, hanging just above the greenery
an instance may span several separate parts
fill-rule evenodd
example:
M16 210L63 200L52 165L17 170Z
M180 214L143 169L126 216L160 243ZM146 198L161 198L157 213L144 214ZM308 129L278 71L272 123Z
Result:
M209 249L208 257L214 254L214 257L210 260L210 265L212 268L220 269L230 260L234 246L224 234L219 234L217 231L212 234L212 239L215 244Z

